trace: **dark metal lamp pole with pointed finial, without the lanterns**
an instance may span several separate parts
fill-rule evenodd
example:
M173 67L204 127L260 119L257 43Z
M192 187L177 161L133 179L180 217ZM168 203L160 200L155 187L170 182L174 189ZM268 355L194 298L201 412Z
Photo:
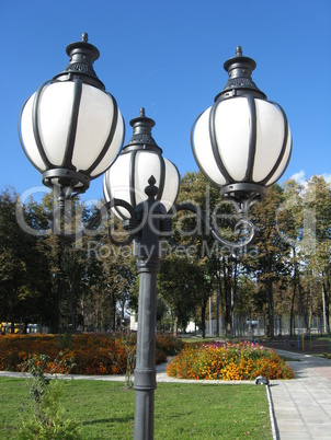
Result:
M160 215L163 206L155 200L158 188L155 180L149 180L146 188L149 198L136 208L141 230L135 239L134 255L137 258L139 274L137 358L134 390L135 402L135 440L153 439L153 412L156 375L156 309L157 275L159 273ZM162 209L163 208L163 209Z

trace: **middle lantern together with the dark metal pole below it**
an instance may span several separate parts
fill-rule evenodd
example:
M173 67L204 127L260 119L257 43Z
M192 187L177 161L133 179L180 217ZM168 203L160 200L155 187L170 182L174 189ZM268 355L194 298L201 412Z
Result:
M125 224L132 221L129 232L134 239L139 276L134 381L136 440L153 438L157 275L163 256L163 242L171 229L167 211L175 202L180 185L176 166L162 157L161 148L151 136L155 124L140 108L139 116L130 120L133 137L117 161L106 171L103 182L104 197L109 202L125 200L135 210L133 216L116 202L113 207L115 216Z

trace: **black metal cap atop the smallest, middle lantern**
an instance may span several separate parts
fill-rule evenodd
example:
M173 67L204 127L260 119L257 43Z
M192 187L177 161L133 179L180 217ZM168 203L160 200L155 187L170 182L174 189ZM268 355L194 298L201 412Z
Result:
M123 147L123 153L133 150L155 150L160 154L162 149L157 144L151 136L151 129L156 125L156 121L150 117L145 116L145 108L140 108L140 114L138 117L129 121L130 126L134 128L134 134L126 146Z

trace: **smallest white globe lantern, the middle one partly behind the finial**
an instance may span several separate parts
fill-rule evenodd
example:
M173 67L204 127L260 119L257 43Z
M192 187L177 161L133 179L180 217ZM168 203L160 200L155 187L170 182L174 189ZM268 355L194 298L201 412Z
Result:
M133 137L123 148L116 162L105 172L103 193L106 201L122 199L133 208L148 198L145 188L151 175L158 187L157 200L169 211L173 206L180 187L180 173L176 166L162 157L161 148L151 136L155 120L140 115L130 120ZM130 218L123 207L113 208L121 220Z

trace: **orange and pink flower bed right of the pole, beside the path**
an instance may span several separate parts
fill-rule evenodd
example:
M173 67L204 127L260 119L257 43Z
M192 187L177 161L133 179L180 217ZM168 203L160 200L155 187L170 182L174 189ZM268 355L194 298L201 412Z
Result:
M251 343L189 344L167 366L179 379L254 380L294 379L294 371L274 351Z

